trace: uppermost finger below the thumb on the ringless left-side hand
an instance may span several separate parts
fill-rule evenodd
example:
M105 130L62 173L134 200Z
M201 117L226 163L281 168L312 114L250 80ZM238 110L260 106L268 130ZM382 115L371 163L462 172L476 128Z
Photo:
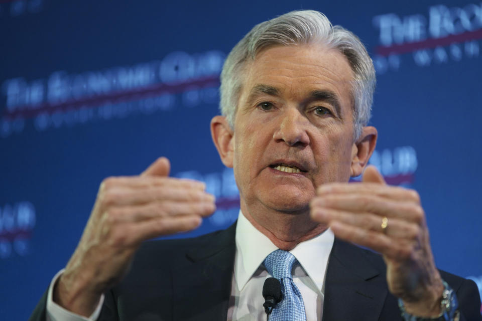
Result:
M151 188L163 186L169 188L192 188L200 191L204 191L206 188L206 184L203 182L188 179L159 176L117 176L103 180L100 191L118 187Z

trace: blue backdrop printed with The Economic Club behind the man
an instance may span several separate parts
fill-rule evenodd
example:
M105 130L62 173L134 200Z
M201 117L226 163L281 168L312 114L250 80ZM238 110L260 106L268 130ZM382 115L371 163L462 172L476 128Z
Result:
M437 266L482 290L482 4L363 3L1 1L2 319L28 318L107 176L165 155L173 176L203 180L217 198L188 235L235 220L232 171L209 133L219 72L255 24L297 9L366 44L378 74L371 162L420 193Z

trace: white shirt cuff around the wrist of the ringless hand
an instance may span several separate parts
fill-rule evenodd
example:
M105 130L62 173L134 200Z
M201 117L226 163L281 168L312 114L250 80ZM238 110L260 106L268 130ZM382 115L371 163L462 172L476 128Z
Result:
M59 278L59 276L62 275L62 273L64 273L64 270L65 269L62 269L57 274L55 274L54 278L52 279L52 282L50 282L49 291L47 293L47 313L46 313L47 321L96 321L99 317L100 309L102 308L102 304L104 302L103 294L100 296L99 304L97 304L97 307L89 317L85 317L77 313L70 312L69 310L63 308L62 306L54 302L53 296L52 296L54 285L57 282L57 279Z

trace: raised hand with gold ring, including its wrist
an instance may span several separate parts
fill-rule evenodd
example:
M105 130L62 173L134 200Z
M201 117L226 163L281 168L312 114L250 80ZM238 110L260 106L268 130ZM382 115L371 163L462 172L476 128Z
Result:
M407 312L439 314L443 284L417 192L386 185L368 167L363 183L320 186L310 206L313 220L330 226L335 236L383 255L389 289Z

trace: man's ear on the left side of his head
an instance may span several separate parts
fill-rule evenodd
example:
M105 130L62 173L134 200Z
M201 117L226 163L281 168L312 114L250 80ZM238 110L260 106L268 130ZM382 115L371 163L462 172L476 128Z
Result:
M226 167L233 165L234 133L229 126L226 117L214 116L211 119L211 136L216 146L221 162Z

